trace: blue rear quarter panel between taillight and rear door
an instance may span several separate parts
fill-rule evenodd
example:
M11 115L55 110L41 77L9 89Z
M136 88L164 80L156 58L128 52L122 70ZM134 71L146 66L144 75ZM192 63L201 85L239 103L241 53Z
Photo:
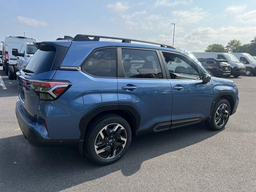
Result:
M58 101L82 114L99 105L118 104L116 78L97 78L81 71L57 70L53 79L72 83Z

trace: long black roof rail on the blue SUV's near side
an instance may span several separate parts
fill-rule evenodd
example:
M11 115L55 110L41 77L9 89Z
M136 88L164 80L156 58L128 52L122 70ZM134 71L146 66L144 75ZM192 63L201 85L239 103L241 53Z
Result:
M90 39L89 37L93 37L93 39ZM165 44L161 44L161 43L150 42L150 41L142 41L142 40L136 40L136 39L127 39L127 38L120 38L120 37L109 37L109 36L97 36L97 35L82 35L82 34L77 34L77 35L73 38L73 41L99 41L100 38L122 40L123 43L130 43L131 41L142 42L142 43L149 43L149 44L160 45L161 47L166 47L166 48L171 48L171 49L176 49L176 50L178 50L176 47L171 46L171 45L165 45Z

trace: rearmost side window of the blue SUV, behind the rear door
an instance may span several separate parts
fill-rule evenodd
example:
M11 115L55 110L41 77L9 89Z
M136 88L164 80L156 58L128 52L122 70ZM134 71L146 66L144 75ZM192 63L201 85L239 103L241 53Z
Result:
M83 64L82 71L96 77L116 77L116 48L94 52Z

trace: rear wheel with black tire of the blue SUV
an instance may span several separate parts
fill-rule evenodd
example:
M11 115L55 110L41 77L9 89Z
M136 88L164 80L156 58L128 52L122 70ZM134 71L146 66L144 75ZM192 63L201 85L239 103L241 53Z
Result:
M124 156L130 146L132 131L128 122L121 116L101 116L89 129L84 140L84 153L96 164L107 165L116 162Z

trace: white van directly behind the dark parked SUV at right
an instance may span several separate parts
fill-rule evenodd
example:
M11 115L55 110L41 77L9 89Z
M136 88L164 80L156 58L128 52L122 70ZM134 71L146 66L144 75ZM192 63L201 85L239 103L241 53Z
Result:
M234 77L239 77L240 75L245 74L244 64L239 62L239 60L232 53L193 52L193 54L196 56L196 58L216 58L227 60L228 64L230 64L230 75L233 75Z

